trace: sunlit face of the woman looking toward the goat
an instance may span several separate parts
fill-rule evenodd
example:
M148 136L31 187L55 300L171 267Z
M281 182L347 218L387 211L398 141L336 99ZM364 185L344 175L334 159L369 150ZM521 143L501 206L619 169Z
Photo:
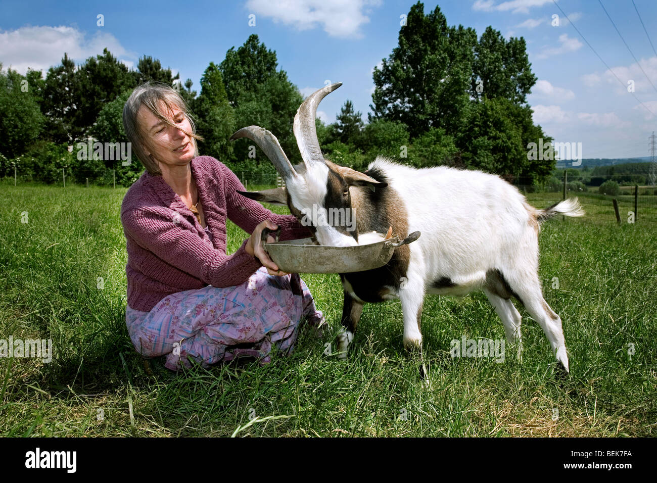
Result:
M166 166L185 166L194 158L196 150L193 138L187 132L192 131L192 126L183 112L172 106L172 112L168 112L164 103L160 104L160 113L169 118L176 126L169 126L158 119L148 108L141 106L137 113L137 121L148 139L147 153L159 162L160 169ZM166 170L166 168L164 168Z

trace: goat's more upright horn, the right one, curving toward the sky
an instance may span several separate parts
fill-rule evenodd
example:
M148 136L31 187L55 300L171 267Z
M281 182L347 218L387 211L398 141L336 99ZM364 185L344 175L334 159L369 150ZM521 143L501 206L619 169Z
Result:
M315 115L317 114L317 106L322 99L340 85L342 85L342 82L337 82L313 92L306 97L306 101L301 104L296 116L294 116L294 137L296 137L296 144L306 167L316 162L324 162L324 156L322 156L322 150L319 147L319 141L317 141Z

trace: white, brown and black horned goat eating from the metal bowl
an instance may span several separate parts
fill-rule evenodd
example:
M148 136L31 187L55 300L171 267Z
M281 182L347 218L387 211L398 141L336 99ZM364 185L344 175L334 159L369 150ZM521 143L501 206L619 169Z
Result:
M424 295L464 296L480 289L502 319L507 340L518 344L519 355L521 317L511 296L539 323L556 359L568 372L561 319L541 292L538 234L541 223L556 214L583 216L578 199L537 210L507 181L480 171L447 166L416 169L380 157L365 173L338 166L322 155L315 114L320 101L340 85L309 95L294 116L302 164L293 167L276 137L261 127L244 127L231 137L258 143L286 183L284 188L239 193L286 205L300 220L313 214L309 228L316 243L354 245L359 233L386 233L391 226L400 239L406 237L383 267L340 274L344 288L340 356L346 357L365 302L398 298L404 346L417 348L421 354ZM327 219L330 208L353 210L355 229L321 223L318 218ZM422 236L409 244L419 235L409 235L416 230Z

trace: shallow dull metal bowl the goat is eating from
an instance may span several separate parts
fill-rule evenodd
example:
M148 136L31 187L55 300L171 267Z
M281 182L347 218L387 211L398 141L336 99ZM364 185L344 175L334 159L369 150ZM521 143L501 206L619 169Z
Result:
M356 246L315 245L309 238L265 243L269 258L288 273L349 273L382 267L399 246L397 236Z

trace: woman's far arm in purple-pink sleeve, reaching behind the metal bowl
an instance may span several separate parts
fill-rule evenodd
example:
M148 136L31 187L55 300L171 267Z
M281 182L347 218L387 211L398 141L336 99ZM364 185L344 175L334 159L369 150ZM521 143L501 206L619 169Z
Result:
M238 227L252 233L258 225L265 219L269 219L281 227L281 240L295 240L311 236L311 232L296 219L294 215L277 215L263 207L256 200L246 198L237 191L246 191L238 177L224 164L218 163L221 168L221 177L223 179L226 194L227 216Z

